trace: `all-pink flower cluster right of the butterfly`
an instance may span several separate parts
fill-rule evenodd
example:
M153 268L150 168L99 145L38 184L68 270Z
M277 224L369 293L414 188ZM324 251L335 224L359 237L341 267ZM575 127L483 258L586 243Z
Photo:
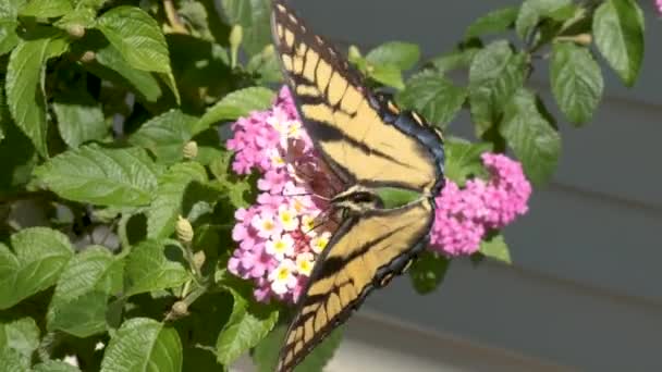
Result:
M498 153L483 153L490 179L467 181L464 188L446 179L436 199L430 248L448 256L475 253L490 230L505 227L527 211L531 185L522 164Z

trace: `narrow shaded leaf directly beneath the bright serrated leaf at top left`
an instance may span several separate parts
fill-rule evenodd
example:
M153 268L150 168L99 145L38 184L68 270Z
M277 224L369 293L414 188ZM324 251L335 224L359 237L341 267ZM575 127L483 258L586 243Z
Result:
M148 102L156 102L162 95L158 79L149 72L132 67L112 45L98 49L95 61L84 66L99 77L138 92Z

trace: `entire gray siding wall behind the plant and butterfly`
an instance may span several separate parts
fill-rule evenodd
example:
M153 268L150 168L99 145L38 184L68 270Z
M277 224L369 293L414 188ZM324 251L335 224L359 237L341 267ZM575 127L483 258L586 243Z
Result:
M427 57L451 50L477 16L518 3L293 2L312 28L341 44L365 50L388 40L414 41ZM409 364L412 371L429 370L424 365L430 360L440 369L491 370L512 365L513 355L536 360L540 364L530 365L539 368L662 370L662 20L654 14L653 0L640 4L647 13L648 45L635 88L624 88L608 72L606 97L592 123L581 129L565 123L550 95L543 94L560 119L563 158L553 184L537 190L529 214L506 231L515 264L475 268L459 260L432 295L416 295L401 278L367 301L365 313L439 336L420 346L428 345L437 359L414 358L421 364ZM531 86L548 91L547 69L540 69ZM451 132L470 133L468 117L461 117ZM393 345L410 350L407 345L416 343L414 331L392 332L389 338L361 319L359 313L350 323L346 345L354 346L343 346L333 364L338 368L330 370L353 370L352 360L359 362L364 352L373 352L375 370L393 367L379 350L395 350L388 355L397 359ZM450 339L463 340L466 352L458 355L466 356L465 363L450 362L451 354L443 352L455 350ZM502 358L488 357L481 351L486 348L499 350L490 356Z

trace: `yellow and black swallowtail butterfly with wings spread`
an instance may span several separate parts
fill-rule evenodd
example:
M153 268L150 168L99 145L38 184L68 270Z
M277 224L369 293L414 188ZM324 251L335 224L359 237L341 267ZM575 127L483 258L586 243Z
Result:
M272 1L271 32L303 125L342 184L330 201L340 226L316 261L280 352L277 371L285 372L427 246L444 150L439 132L371 92L283 0Z

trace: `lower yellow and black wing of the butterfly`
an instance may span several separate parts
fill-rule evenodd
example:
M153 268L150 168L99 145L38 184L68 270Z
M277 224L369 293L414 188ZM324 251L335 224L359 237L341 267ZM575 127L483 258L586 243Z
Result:
M298 301L277 371L291 371L371 289L401 274L427 245L431 201L376 209L346 219L318 258Z

